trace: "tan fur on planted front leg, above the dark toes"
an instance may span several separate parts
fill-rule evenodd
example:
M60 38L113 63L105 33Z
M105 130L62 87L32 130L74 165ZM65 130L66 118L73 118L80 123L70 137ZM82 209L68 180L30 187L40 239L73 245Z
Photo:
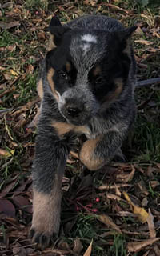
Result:
M58 234L60 225L62 172L55 174L50 194L34 189L32 227L38 234Z

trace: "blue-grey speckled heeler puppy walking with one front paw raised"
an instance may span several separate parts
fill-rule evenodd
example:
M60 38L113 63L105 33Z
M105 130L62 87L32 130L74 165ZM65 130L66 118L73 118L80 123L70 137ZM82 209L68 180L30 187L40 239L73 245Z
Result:
M100 15L64 26L56 17L50 22L50 47L38 80L42 104L32 173L30 236L42 248L58 236L62 176L75 136L86 136L79 158L89 170L122 153L136 112L134 30Z

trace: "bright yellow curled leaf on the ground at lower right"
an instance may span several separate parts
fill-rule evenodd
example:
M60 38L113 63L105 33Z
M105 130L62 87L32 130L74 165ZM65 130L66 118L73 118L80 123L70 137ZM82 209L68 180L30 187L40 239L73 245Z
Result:
M138 220L142 223L145 223L148 218L148 215L149 215L146 212L146 210L142 207L134 205L134 202L132 202L130 200L130 197L128 196L128 194L126 192L123 192L123 194L124 194L124 197L126 198L126 201L129 202L132 211L134 212L134 214L137 215Z

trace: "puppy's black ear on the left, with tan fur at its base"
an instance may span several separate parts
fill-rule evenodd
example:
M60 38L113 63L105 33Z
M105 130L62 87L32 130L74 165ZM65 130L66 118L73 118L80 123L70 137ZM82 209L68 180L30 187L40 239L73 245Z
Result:
M55 47L57 47L61 43L63 35L68 30L70 30L70 27L66 25L62 26L58 17L54 16L51 19L49 26L51 37L48 50L53 50Z

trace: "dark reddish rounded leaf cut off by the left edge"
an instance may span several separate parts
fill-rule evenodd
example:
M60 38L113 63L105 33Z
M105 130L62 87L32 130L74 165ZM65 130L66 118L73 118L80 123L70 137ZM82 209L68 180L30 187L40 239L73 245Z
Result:
M14 205L6 199L0 199L0 213L6 217L15 217Z

